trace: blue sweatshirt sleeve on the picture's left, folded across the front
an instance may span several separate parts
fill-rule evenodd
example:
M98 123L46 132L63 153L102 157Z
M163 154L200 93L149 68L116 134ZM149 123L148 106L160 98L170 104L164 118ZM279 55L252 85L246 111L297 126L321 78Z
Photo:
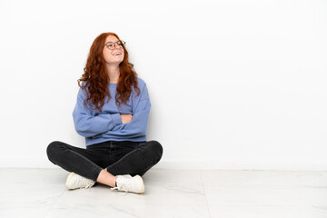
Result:
M120 114L91 114L91 110L84 107L84 99L85 95L80 88L73 111L74 127L77 134L92 137L110 131L114 126L122 124Z

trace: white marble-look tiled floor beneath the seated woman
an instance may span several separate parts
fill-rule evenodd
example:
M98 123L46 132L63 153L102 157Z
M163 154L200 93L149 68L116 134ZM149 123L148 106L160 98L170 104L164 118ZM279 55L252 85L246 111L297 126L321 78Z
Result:
M144 194L68 191L67 175L0 168L0 217L327 218L327 172L152 169Z

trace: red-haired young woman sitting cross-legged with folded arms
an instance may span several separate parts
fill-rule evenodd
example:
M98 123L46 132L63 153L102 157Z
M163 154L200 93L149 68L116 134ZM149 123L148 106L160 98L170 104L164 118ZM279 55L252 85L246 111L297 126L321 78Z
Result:
M137 77L128 52L114 33L97 36L78 80L74 127L86 149L54 141L49 160L72 172L67 189L104 183L118 191L144 193L142 175L163 155L157 141L146 141L151 108L144 80Z

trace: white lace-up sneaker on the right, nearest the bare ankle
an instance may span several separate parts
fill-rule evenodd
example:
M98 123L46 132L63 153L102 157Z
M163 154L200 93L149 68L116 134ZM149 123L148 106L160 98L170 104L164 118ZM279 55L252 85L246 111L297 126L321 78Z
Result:
M117 175L117 187L112 188L112 190L124 191L128 193L144 193L144 182L141 176L135 175Z

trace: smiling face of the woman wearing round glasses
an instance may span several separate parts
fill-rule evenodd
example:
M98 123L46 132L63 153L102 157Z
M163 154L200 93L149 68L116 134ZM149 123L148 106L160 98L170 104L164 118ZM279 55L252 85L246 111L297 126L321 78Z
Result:
M114 43L114 45L113 45ZM104 61L106 64L120 64L124 60L124 48L118 45L120 41L114 35L108 35L104 45Z

